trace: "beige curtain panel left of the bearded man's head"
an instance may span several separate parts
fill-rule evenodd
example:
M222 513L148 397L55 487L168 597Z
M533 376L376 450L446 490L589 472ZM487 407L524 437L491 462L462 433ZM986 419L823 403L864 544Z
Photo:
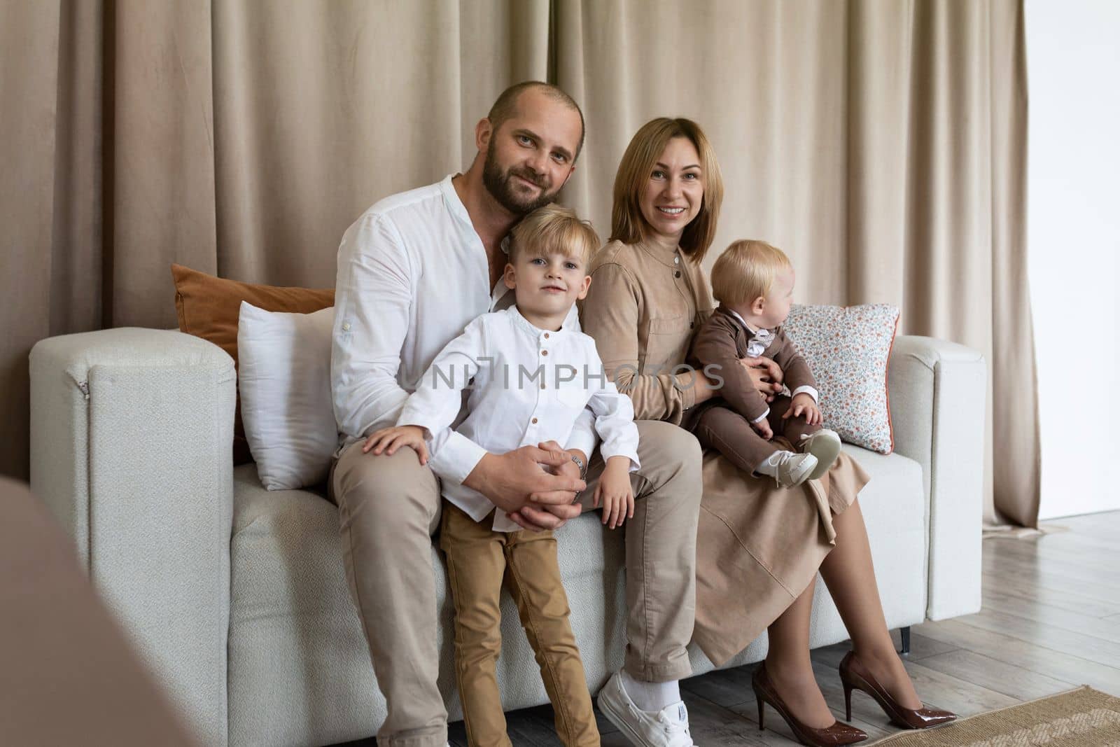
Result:
M170 263L332 287L346 226L548 76L548 0L0 0L0 474L27 355L174 327ZM482 40L482 41L480 41Z

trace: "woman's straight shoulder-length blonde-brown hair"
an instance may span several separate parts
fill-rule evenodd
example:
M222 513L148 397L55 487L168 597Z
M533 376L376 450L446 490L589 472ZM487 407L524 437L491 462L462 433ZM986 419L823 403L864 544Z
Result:
M684 227L681 250L699 262L716 237L719 206L724 202L724 178L719 161L700 125L683 118L661 116L642 125L631 139L618 174L615 175L614 206L610 211L610 241L636 244L646 237L650 224L642 216L641 196L654 165L673 138L688 138L700 156L703 202L700 212Z

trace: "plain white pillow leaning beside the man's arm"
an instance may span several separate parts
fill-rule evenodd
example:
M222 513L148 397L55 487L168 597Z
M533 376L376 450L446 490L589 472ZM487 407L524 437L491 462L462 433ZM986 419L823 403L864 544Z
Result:
M241 418L261 484L269 491L317 485L338 446L330 401L335 310L265 311L241 302L237 386Z

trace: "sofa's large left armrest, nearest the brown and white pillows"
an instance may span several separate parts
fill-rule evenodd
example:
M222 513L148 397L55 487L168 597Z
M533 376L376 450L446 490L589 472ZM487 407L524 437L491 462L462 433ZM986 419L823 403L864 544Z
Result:
M225 745L233 361L178 332L30 355L31 488L199 739Z

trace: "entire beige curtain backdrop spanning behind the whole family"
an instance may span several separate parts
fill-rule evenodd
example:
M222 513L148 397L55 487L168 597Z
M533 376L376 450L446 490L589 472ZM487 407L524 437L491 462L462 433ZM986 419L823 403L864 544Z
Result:
M633 132L692 116L717 248L768 239L804 301L983 351L989 522L1034 524L1024 75L1019 0L0 0L0 471L27 474L36 340L174 326L171 262L332 286L362 209L464 168L496 94L547 78L585 109L564 200L604 234Z

